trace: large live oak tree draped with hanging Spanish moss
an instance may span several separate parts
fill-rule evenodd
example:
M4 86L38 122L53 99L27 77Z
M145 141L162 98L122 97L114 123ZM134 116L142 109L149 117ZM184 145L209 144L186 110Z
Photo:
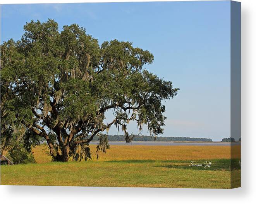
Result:
M124 132L129 121L151 135L163 133L162 101L178 88L143 68L153 62L148 50L114 39L99 46L77 24L31 21L19 41L1 45L1 141L46 140L57 161L90 158L89 142L100 137L97 151L108 148L103 132L112 125ZM105 123L105 113L113 112ZM60 151L59 151L60 150ZM61 153L59 153L61 152Z

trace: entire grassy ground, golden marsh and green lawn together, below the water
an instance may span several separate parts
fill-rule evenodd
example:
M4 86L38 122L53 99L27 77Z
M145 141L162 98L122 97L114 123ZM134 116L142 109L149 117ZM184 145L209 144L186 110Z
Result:
M230 151L233 151L232 165ZM33 149L36 164L2 165L1 185L224 188L240 185L241 146L111 145L96 159L52 162L46 145ZM199 166L192 166L193 164ZM204 168L211 161L210 167ZM200 166L200 164L202 166Z

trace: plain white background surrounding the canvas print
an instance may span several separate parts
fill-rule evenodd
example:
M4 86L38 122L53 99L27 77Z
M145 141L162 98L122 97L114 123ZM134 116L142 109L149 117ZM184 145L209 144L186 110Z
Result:
M131 0L126 0L127 2ZM141 2L143 0L140 0ZM122 2L122 0L1 0L2 3ZM242 187L239 189L160 189L117 187L0 186L6 203L255 203L256 201L256 1L241 0L242 17ZM253 37L254 36L254 37ZM207 182L207 181L205 181ZM254 201L254 202L253 202Z

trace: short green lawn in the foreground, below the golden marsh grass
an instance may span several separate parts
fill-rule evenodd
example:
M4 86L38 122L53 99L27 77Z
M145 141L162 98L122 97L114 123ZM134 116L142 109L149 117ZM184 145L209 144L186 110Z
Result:
M212 165L204 169L184 161L131 160L1 166L1 185L230 188L229 160L213 160Z

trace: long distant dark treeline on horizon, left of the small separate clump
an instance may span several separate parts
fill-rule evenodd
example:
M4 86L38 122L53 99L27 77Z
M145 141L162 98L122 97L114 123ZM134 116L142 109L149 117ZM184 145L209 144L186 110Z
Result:
M99 140L95 136L93 140ZM108 141L125 141L124 135L108 135ZM135 135L132 141L155 141L155 137L147 135ZM212 142L209 138L195 138L195 137L156 137L156 141L161 142Z

